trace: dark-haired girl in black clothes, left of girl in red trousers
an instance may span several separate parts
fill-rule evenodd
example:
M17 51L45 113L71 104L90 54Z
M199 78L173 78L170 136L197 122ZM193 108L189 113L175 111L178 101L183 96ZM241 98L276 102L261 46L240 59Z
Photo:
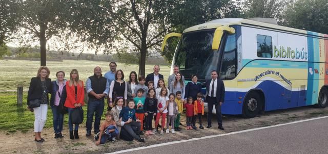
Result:
M149 84L148 84L149 85ZM153 135L152 132L152 121L154 115L157 112L157 98L155 97L155 89L150 88L147 93L147 98L145 100L145 117L146 117L146 135ZM155 129L153 130L156 131Z

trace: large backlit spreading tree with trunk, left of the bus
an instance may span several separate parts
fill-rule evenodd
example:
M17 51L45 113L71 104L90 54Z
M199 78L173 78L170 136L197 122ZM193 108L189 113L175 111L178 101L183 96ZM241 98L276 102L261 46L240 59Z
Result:
M169 8L174 0L77 0L70 11L71 29L104 53L133 53L139 60L139 73L145 75L146 57L156 50L171 28ZM126 41L127 40L127 41Z

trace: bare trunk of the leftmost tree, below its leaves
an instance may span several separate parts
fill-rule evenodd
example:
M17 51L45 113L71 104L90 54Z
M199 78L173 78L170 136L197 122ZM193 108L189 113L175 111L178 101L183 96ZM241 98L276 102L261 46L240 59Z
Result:
M47 39L46 39L46 24L39 24L40 25L40 34L39 34L39 40L40 40L40 62L41 66L47 65L47 55L46 55L46 45L47 45Z

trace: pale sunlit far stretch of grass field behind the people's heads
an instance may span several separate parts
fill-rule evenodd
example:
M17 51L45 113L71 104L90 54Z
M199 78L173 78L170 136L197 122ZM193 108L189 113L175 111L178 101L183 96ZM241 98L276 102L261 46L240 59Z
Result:
M27 90L30 80L36 76L37 69L40 66L38 61L19 61L19 60L0 60L0 92L15 91L17 86L24 86ZM86 60L64 60L63 62L47 62L50 69L50 78L56 79L56 72L64 70L66 79L69 79L69 73L72 69L77 69L80 80L84 82L93 75L95 66L100 66L105 74L109 70L109 62L86 61ZM125 73L125 80L129 79L131 71L138 73L138 65L126 65L117 63L117 69L122 69ZM153 65L146 65L146 74L153 72ZM170 66L160 66L160 71L167 82L170 73Z

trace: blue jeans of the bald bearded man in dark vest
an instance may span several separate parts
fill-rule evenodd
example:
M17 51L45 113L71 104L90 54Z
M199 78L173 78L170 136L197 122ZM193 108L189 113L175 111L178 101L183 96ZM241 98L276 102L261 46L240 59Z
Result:
M88 101L88 111L87 111L87 132L91 132L93 114L96 113L93 123L94 132L99 131L100 119L104 113L105 101L104 99L98 100L94 98L89 98Z

